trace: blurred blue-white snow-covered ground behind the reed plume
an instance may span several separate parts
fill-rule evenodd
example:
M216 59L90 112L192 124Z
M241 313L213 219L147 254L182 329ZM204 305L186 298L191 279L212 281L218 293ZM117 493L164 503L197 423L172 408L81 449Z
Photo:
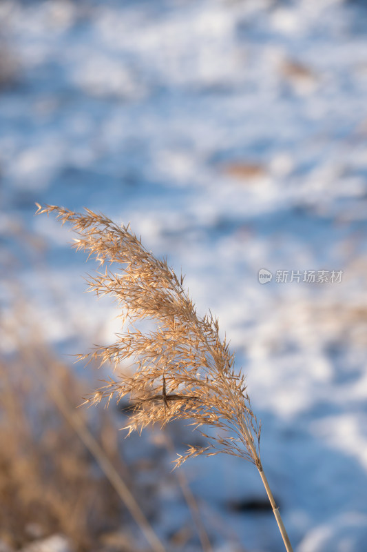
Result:
M46 338L118 326L34 201L131 221L231 339L295 550L366 551L367 3L1 0L0 38L1 235L48 247L19 273ZM218 551L282 550L252 466L183 469Z

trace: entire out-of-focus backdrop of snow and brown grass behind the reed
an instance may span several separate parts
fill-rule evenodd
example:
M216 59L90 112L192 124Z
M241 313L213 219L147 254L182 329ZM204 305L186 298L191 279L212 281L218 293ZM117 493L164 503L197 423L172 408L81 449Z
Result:
M365 1L1 0L1 551L151 549L85 435L168 551L283 549L253 466L178 475L191 430L124 440L124 405L76 410L105 373L68 355L119 324L36 201L182 268L247 373L295 550L366 550L366 106Z

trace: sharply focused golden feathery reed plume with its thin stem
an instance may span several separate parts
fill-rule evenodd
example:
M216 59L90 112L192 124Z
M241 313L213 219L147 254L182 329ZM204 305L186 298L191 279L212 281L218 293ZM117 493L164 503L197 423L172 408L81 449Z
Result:
M166 260L149 253L129 229L104 215L85 209L73 213L57 206L37 204L37 214L56 212L62 223L70 222L78 235L76 250L95 257L103 272L88 278L89 290L99 297L110 294L121 307L123 333L116 342L97 346L79 359L136 365L134 375L110 378L85 402L96 404L128 396L133 412L127 434L150 424L165 426L176 419L188 420L205 437L205 446L189 446L178 455L176 466L189 457L227 453L253 462L260 472L287 551L291 544L266 481L260 460L260 424L252 411L245 377L234 368L234 357L220 339L218 319L211 313L200 317ZM114 269L112 270L112 266ZM115 270L116 268L116 270ZM139 329L149 320L150 331ZM212 428L207 433L205 428Z

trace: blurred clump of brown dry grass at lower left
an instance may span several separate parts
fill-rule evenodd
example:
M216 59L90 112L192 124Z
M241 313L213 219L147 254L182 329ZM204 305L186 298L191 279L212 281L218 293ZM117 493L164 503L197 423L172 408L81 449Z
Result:
M104 536L123 525L126 509L54 401L57 389L74 415L83 386L30 328L17 328L15 335L16 328L2 328L18 339L18 351L0 364L0 542L19 549L61 533L71 549L99 550ZM98 439L114 435L107 416L99 425ZM117 446L106 439L104 445L123 471Z

